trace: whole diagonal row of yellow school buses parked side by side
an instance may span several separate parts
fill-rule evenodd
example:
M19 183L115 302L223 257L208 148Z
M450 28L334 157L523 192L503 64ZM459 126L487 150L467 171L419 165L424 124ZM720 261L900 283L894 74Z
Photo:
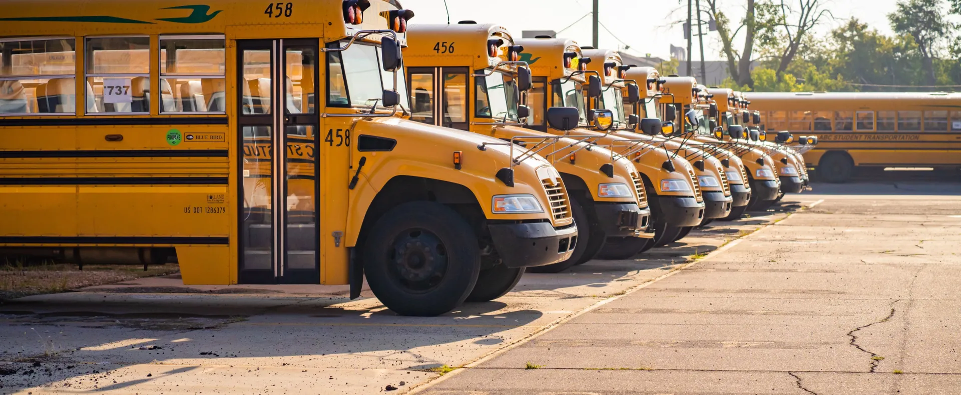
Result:
M408 26L394 0L278 5L7 7L0 254L176 259L185 284L352 298L366 280L386 307L436 315L807 185L816 139L758 130L740 92L497 24ZM164 77L201 58L220 67ZM153 61L90 71L132 59Z

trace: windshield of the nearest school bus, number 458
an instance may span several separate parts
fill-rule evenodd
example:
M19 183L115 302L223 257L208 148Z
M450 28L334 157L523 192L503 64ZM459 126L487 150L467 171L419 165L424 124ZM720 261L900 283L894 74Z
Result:
M382 90L393 88L394 73L383 71L377 46L355 42L343 51L327 54L330 106L371 108L376 104L378 108L383 108L380 102ZM402 66L397 71L397 92L401 96L398 107L408 109L403 70Z

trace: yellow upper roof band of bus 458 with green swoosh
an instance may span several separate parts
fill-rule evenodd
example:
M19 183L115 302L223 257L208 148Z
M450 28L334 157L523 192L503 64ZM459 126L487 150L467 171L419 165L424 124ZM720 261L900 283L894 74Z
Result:
M339 0L277 3L291 5L289 12L285 6L275 9L272 3L265 8L267 4L253 0L207 0L200 5L172 0L5 0L0 37L226 34L332 41L358 30L387 29L386 12L401 9L397 0L370 0L362 23L349 25Z

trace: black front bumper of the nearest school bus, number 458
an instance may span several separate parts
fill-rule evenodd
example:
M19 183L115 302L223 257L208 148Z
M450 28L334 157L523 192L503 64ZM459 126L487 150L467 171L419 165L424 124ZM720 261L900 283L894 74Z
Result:
M543 266L571 258L578 227L554 228L547 222L488 224L497 254L507 267Z

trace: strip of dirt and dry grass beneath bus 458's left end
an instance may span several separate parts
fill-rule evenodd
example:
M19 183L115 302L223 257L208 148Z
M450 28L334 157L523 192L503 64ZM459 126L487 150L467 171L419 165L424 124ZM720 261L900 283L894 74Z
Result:
M151 265L146 271L139 265L84 265L84 270L80 270L69 263L0 263L0 301L164 276L179 270L176 263Z

